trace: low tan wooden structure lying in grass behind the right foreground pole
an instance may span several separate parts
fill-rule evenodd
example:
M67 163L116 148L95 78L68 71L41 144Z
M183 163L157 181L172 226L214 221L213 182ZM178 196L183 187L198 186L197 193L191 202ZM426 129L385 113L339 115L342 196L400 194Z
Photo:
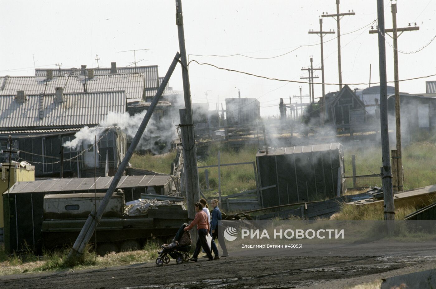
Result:
M422 188L414 188L408 191L397 192L394 194L395 206L411 205L418 206L426 204L430 201L432 196L436 195L436 185L430 185ZM348 205L373 205L383 203L383 198L366 198L364 200L357 200L348 202Z

